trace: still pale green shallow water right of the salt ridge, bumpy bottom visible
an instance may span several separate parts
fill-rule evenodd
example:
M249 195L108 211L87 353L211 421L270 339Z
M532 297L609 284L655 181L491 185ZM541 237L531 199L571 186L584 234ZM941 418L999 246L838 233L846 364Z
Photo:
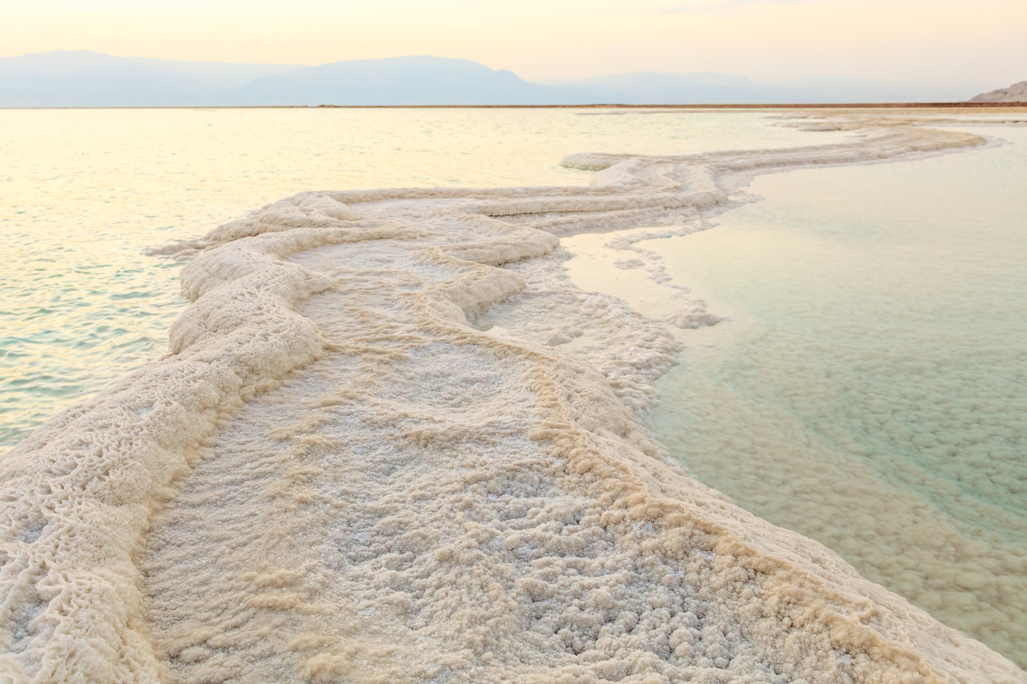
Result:
M681 332L649 427L701 481L1023 667L1027 131L975 132L1014 145L762 176L717 228L637 243L730 318ZM564 240L575 281L665 314L676 292L610 268L635 254L609 240Z

